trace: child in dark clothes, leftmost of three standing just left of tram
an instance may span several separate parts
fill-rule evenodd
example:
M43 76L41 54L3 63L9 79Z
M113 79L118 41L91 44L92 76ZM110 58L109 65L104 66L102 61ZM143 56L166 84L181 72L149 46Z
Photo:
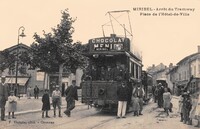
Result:
M48 115L48 111L50 110L50 99L48 90L45 89L44 94L42 96L42 118L44 118L44 112L46 112L46 118L50 118Z

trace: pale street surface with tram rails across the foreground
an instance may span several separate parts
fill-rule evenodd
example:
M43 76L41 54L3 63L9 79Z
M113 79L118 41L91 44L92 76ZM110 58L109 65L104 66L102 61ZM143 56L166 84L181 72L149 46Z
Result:
M41 108L39 105L41 98L27 101L29 103L27 108L30 108L31 103L37 103L34 105ZM62 118L58 116L54 118L52 110L49 111L51 118L41 118L41 111L29 112L16 115L17 119L6 118L7 121L0 121L0 129L197 129L194 127L196 121L193 121L192 126L180 122L177 113L178 99L174 97L172 102L173 113L169 116L166 116L163 109L157 108L155 103L150 102L145 105L142 116L137 117L128 113L126 118L116 119L115 113L99 112L95 108L88 109L87 105L76 101L77 106L72 111L71 117L63 113L65 107L62 109ZM62 104L66 105L64 98ZM35 108L34 105L32 108Z

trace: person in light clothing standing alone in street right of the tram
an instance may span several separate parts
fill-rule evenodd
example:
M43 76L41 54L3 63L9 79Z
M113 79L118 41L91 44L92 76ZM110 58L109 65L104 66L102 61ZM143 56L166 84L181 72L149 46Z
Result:
M165 112L167 113L167 116L169 115L169 110L171 108L171 93L168 91L167 88L164 89L164 93L163 93L163 107Z

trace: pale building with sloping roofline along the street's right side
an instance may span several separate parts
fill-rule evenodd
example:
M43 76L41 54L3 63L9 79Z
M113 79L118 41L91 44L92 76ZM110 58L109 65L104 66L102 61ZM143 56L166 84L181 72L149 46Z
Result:
M180 89L187 85L191 76L194 77L191 84L196 85L196 81L200 78L200 47L198 46L197 53L180 60L167 74L170 76L170 81L173 83L176 94L180 94Z

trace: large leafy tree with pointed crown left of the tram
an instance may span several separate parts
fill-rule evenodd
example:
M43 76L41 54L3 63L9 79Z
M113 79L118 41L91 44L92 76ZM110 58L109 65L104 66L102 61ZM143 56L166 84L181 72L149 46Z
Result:
M46 73L59 71L59 85L62 84L63 68L74 72L78 67L84 67L87 59L81 55L80 42L73 43L72 23L75 19L70 17L68 9L61 12L62 18L52 33L43 34L44 37L34 34L35 42L31 45L31 65L40 68Z

